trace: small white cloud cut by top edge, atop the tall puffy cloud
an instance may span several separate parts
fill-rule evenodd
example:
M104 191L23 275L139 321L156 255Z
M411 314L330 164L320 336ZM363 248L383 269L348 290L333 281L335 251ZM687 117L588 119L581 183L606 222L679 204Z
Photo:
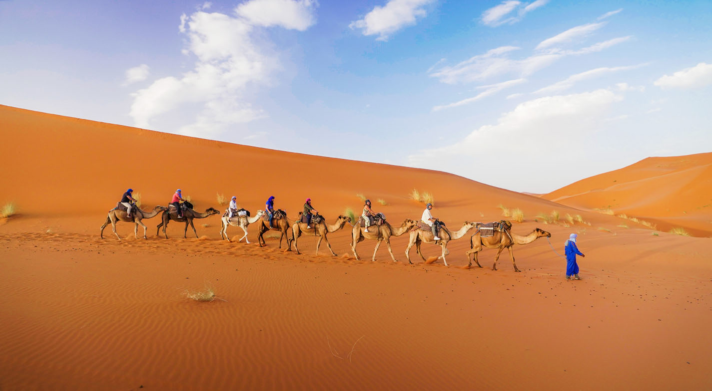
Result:
M314 0L251 0L240 4L235 13L255 26L282 26L305 31L315 22Z

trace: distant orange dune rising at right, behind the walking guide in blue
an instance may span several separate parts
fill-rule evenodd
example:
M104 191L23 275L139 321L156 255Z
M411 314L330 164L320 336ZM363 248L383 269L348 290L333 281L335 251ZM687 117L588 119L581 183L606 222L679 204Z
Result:
M585 210L610 208L656 223L712 234L712 153L651 157L582 179L542 198Z

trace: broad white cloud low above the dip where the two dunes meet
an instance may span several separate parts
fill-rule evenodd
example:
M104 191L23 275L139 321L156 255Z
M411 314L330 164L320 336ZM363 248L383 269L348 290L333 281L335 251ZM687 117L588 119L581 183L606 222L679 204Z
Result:
M559 173L575 170L567 168L566 162L579 161L575 158L586 148L584 141L595 136L605 114L622 99L613 90L600 89L529 100L502 114L496 124L478 127L454 144L419 151L409 156L408 163L510 189L550 191L535 179L540 178L540 171L559 177ZM493 151L502 151L503 159L493 156ZM491 164L477 164L482 156L490 156ZM573 178L581 175L567 173ZM561 181L570 183L570 178Z

